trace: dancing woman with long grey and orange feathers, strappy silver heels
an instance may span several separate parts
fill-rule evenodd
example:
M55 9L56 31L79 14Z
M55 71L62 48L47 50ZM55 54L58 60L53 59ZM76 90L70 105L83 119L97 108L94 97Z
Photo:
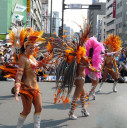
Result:
M58 92L56 95L56 99L60 97L61 93L64 93L65 88L68 88L67 97L63 102L68 101L68 97L70 96L73 85L75 84L75 91L73 94L73 98L70 105L69 118L77 119L77 116L74 115L74 110L76 108L76 102L80 97L81 102L81 113L83 116L89 116L85 108L85 67L87 67L90 71L97 72L93 67L90 66L89 59L86 57L86 49L83 46L87 40L89 34L89 26L82 31L81 36L79 36L79 40L72 42L62 42L62 47L58 47L59 43L55 43L57 46L57 52L59 51L60 60L59 65L56 69L56 84L58 87ZM55 51L52 50L52 51ZM61 81L59 81L61 79ZM64 96L61 97L63 99Z

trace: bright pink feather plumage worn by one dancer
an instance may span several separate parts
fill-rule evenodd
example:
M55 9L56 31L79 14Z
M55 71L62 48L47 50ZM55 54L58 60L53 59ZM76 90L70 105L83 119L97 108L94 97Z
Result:
M89 50L90 48L93 48L93 57L92 57L92 66L96 68L97 70L100 69L102 64L102 56L101 52L105 51L105 48L101 42L98 42L95 37L91 37L89 40L87 40L86 44L86 56L89 56ZM85 68L86 75L90 73L88 68ZM97 73L95 72L96 76L99 76L101 78L101 72Z

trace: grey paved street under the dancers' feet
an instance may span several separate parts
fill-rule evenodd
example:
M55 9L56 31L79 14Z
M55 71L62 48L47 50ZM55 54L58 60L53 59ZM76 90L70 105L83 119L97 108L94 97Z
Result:
M15 128L22 110L21 100L16 102L11 94L14 82L0 81L0 128ZM86 90L90 89L86 83ZM77 120L68 119L69 105L53 104L54 82L39 82L43 97L41 128L127 128L127 84L117 85L118 93L112 92L112 83L104 83L101 93L96 93L96 100L90 99L87 110L89 117L82 117L78 102L75 115ZM97 87L98 89L98 87ZM23 128L33 128L32 107Z

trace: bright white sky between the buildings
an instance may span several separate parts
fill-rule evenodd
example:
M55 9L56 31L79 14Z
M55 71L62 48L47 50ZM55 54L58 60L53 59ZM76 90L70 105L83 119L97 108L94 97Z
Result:
M100 2L106 2L106 0L100 0ZM92 3L92 0L65 0L65 4L91 4L91 3ZM52 10L58 11L61 18L62 17L62 0L52 0L52 5L53 5ZM64 24L73 28L75 32L80 31L80 28L78 27L78 25L82 26L84 19L87 19L87 9L65 9L64 10Z

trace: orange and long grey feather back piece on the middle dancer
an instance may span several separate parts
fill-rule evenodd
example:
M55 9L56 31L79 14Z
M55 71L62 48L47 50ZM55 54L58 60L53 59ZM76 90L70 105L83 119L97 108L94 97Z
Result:
M57 92L54 94L54 103L61 101L64 105L65 103L69 103L68 97L70 96L76 77L77 64L86 55L84 43L88 39L89 32L90 26L87 25L82 30L78 39L73 39L72 42L63 41L60 38L52 39L48 42L47 49L53 53L53 59L56 62ZM63 38L65 37L63 36ZM65 89L66 87L68 90Z

